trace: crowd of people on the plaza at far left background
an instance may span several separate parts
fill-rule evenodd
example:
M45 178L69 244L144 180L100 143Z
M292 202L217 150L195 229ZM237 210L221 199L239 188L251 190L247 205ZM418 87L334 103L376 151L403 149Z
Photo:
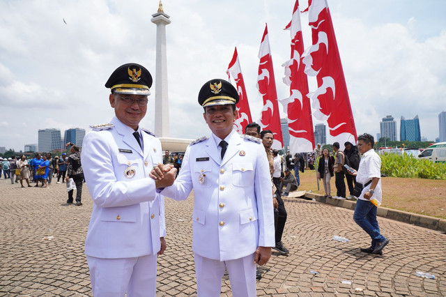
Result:
M13 155L10 158L0 158L0 178L3 172L4 178L10 178L11 184L19 183L21 188L25 188L24 181L28 187L31 183L36 183L34 187L47 188L52 184L53 178L57 178L56 183L60 184L70 181L72 178L76 185L76 204L81 206L82 183L84 175L80 162L80 148L71 142L66 144L70 147L70 155L62 153L52 157L52 153L36 153L33 158L27 159L25 155L17 160ZM74 189L68 192L68 204L73 203Z

